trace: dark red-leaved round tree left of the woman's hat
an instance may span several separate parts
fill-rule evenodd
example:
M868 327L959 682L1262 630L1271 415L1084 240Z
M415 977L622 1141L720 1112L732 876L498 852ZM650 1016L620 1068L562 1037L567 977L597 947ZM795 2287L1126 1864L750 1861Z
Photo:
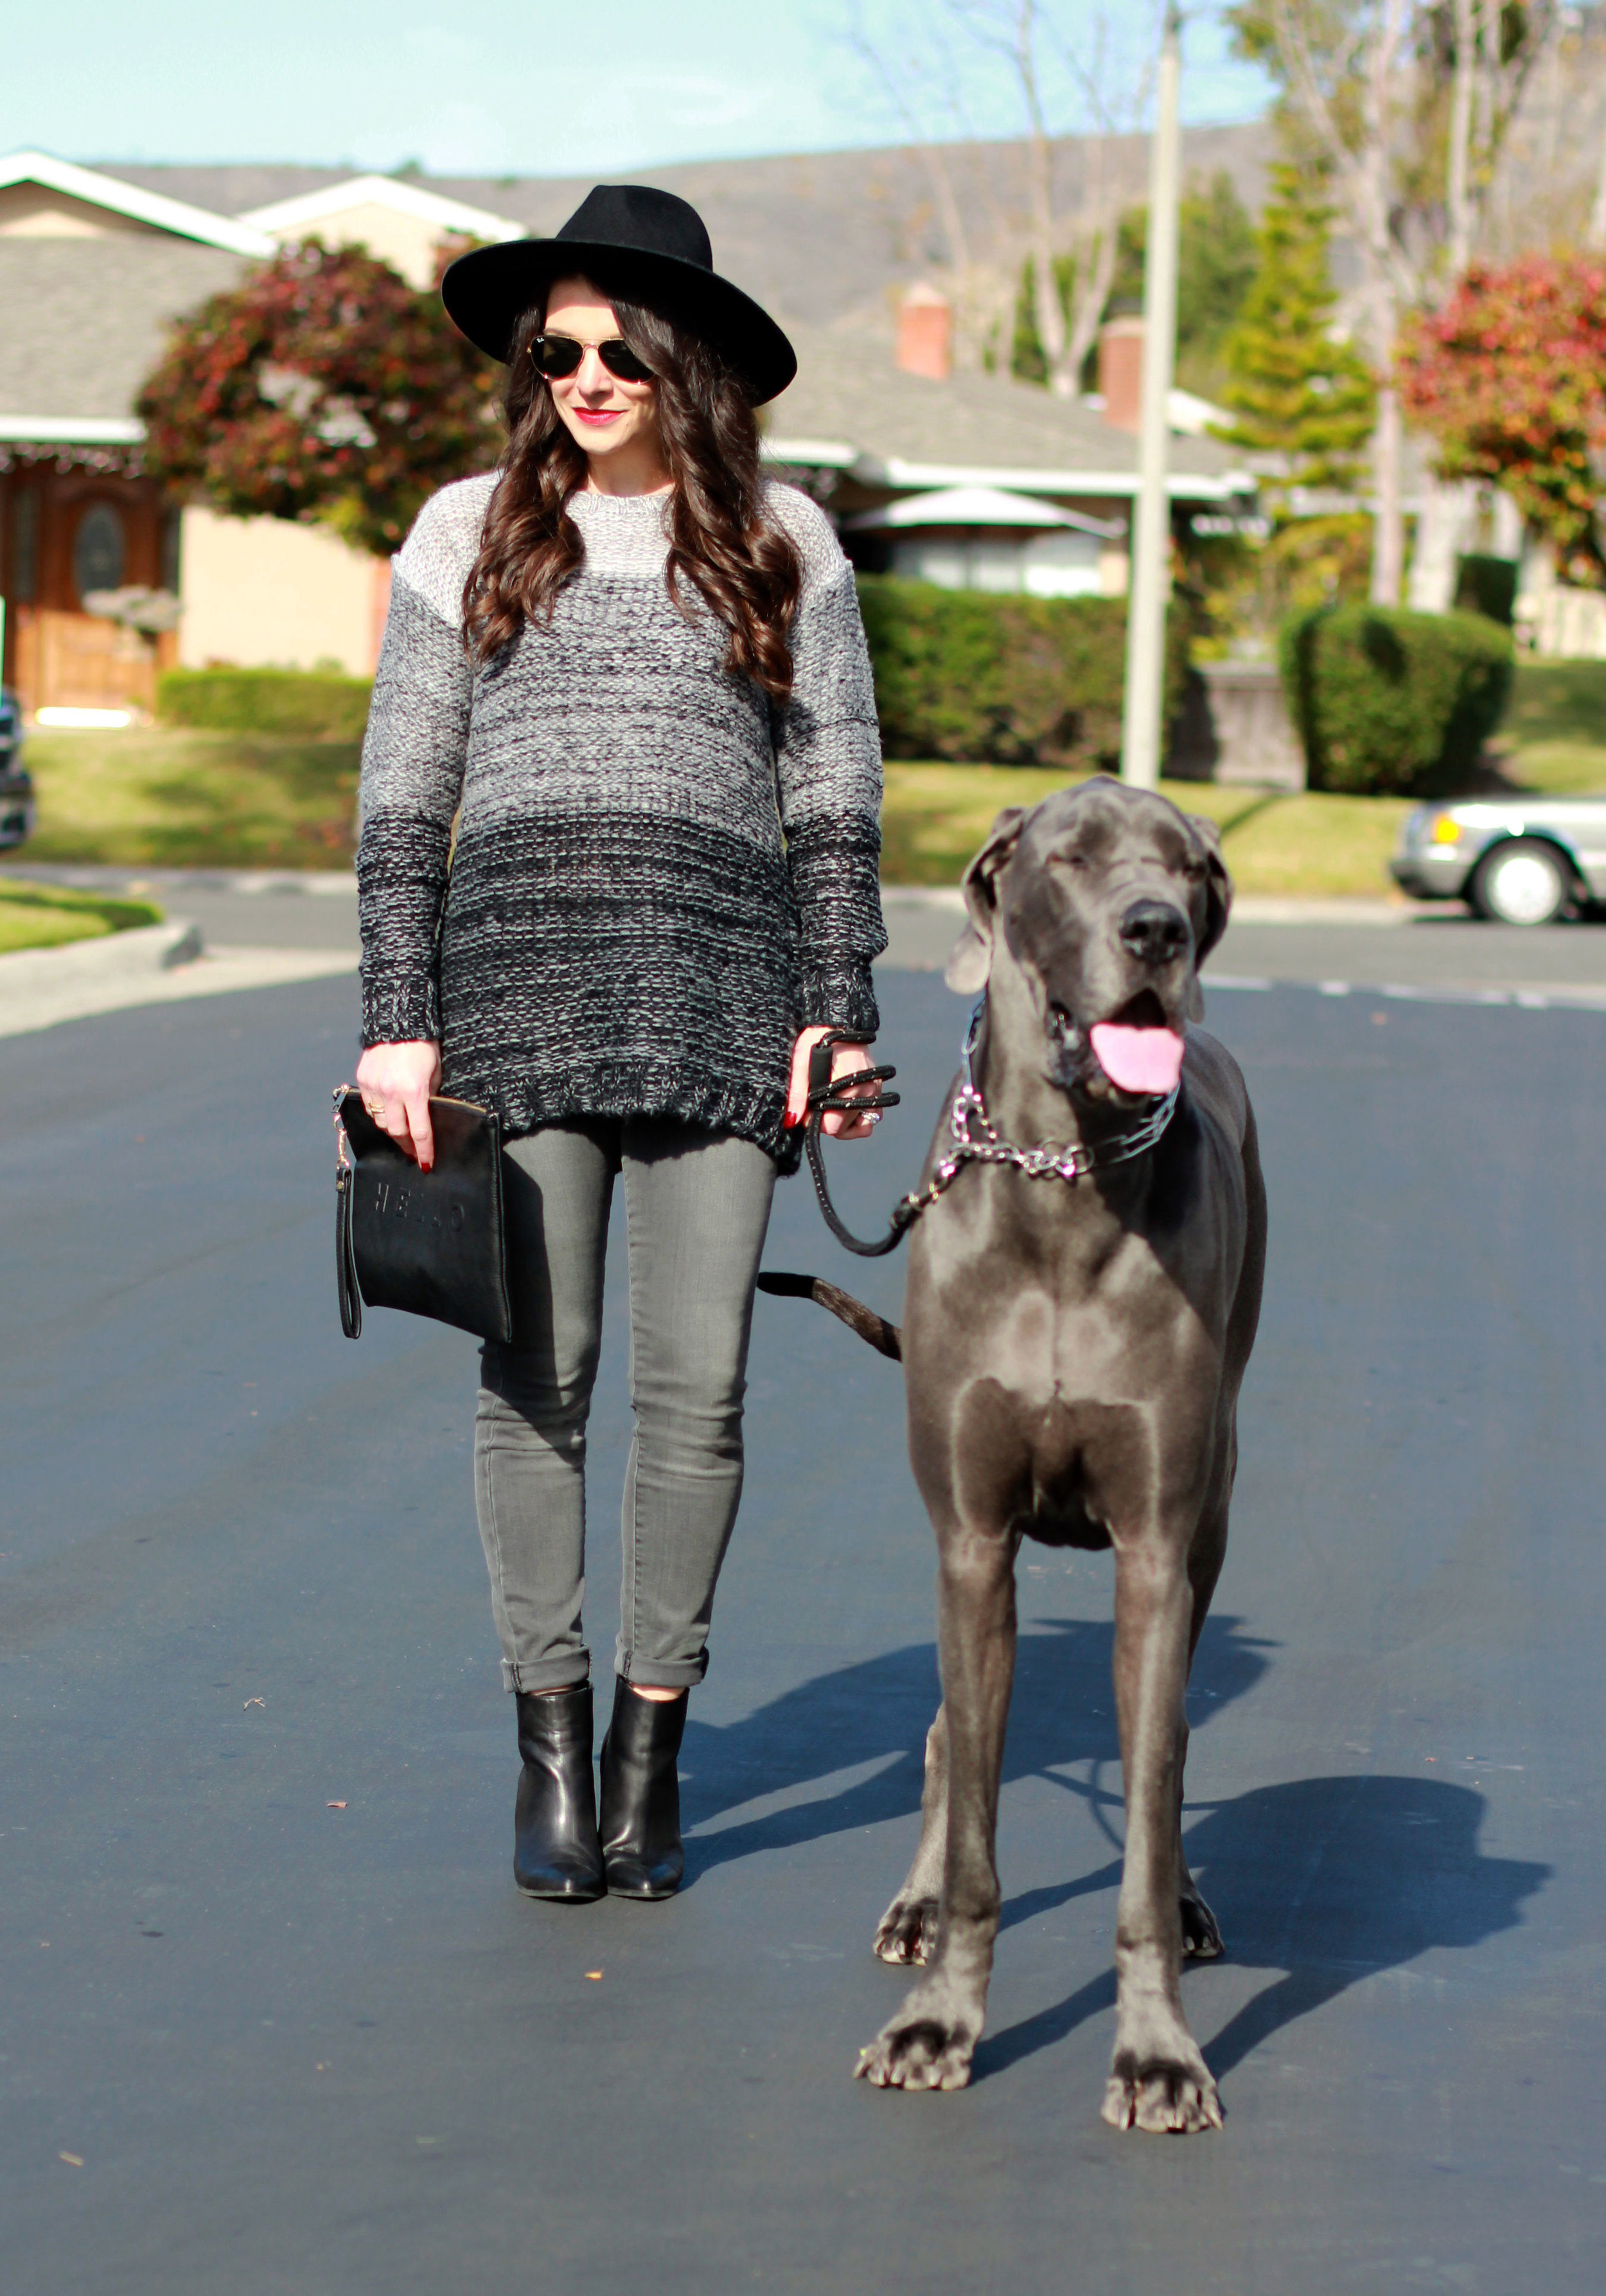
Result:
M493 390L436 294L310 239L179 319L135 411L177 494L383 553L436 487L496 464Z

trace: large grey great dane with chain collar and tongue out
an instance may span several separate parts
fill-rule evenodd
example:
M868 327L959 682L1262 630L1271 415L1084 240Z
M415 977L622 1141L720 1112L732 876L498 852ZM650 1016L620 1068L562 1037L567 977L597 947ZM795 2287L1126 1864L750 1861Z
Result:
M1232 886L1209 822L1090 781L1000 813L964 893L948 983L987 1001L925 1182L959 1139L982 1157L959 1157L913 1226L902 1332L943 1704L920 1848L876 1931L883 1961L925 1975L858 2073L970 2078L1000 1910L1016 1552L1113 1548L1126 1857L1104 2117L1221 2126L1179 1975L1184 1954L1221 1952L1182 1855L1184 1690L1227 1545L1266 1247L1244 1077L1193 1026ZM998 1155L1042 1143L1065 1150L1058 1173Z

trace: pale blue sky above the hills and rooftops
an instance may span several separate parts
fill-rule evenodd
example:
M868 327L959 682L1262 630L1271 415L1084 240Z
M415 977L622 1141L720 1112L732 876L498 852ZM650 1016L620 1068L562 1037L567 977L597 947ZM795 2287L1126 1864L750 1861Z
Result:
M1104 7L1147 46L1152 0L1044 0L1078 55ZM34 0L7 11L0 149L96 161L310 161L438 174L608 174L691 158L902 142L853 55L856 0ZM858 0L895 55L943 0ZM500 16L500 23L496 21ZM959 51L954 51L959 53ZM1053 69L1055 126L1081 126ZM1003 78L964 69L977 133L1014 133ZM1257 73L1216 21L1186 34L1184 110L1246 119ZM948 115L952 122L952 113ZM950 126L952 131L952 126Z

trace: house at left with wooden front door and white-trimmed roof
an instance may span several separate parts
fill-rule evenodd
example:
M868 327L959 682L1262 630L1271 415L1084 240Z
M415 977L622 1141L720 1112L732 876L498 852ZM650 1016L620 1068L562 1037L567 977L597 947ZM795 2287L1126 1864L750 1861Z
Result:
M443 239L519 230L388 177L223 216L44 152L0 158L0 597L23 707L149 709L170 664L372 670L388 565L319 526L167 505L133 402L165 326L284 241L362 239L422 285ZM133 583L184 602L154 647L83 608Z

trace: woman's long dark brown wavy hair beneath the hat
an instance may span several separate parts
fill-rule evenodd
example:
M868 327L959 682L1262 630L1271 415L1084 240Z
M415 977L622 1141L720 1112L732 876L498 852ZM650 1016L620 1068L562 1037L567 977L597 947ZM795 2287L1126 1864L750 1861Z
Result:
M764 519L759 427L741 377L686 326L603 280L619 335L652 367L658 429L675 480L668 585L686 613L691 583L730 631L725 668L773 700L792 693L787 629L803 588L792 537ZM585 450L567 432L546 377L530 358L544 305L528 310L507 367L507 452L480 556L463 585L463 634L491 661L525 622L551 620L558 592L585 563L569 496L585 484Z

